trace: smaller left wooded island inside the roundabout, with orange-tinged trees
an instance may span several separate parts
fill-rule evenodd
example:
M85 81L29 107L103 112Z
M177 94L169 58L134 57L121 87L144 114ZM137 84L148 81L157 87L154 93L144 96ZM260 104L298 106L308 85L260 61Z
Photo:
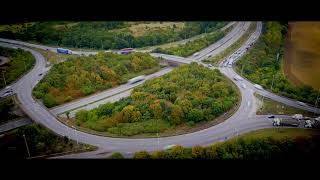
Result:
M127 82L132 77L160 68L158 61L145 53L119 55L99 52L96 56L72 57L55 64L34 88L33 95L53 107Z

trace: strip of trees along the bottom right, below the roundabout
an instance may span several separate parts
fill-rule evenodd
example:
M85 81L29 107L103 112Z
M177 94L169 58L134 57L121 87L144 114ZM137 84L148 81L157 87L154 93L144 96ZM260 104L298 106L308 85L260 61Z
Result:
M208 147L184 148L175 146L167 151L136 152L133 159L242 159L242 160L292 160L320 159L320 138L255 138L217 143ZM116 154L111 158L123 158Z

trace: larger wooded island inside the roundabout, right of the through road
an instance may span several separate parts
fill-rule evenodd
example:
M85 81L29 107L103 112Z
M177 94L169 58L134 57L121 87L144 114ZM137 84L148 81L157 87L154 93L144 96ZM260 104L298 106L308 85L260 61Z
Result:
M77 112L76 122L117 135L157 133L212 120L232 108L238 98L220 71L193 63L146 81L118 102Z

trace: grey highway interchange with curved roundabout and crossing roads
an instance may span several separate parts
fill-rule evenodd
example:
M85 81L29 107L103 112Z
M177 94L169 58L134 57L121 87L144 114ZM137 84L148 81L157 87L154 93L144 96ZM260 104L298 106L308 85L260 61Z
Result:
M187 58L159 53L151 53L151 55L154 57L161 57L167 61L173 61L175 63L190 64L191 62L196 62L211 69L217 68L226 77L231 79L237 85L238 89L241 92L241 104L238 110L224 122L197 132L172 137L111 138L86 133L65 125L57 119L57 116L66 111L71 111L71 116L74 116L74 113L80 109L92 109L106 102L115 102L123 97L129 96L131 90L135 86L142 84L144 81L136 84L124 84L89 97L85 97L48 109L33 98L32 89L50 70L50 67L46 67L46 59L39 52L31 49L30 47L50 50L52 52L56 52L56 48L2 38L0 38L0 46L24 49L31 52L36 59L36 63L33 69L25 74L22 78L17 80L15 83L10 85L20 102L19 106L22 108L22 110L32 120L44 125L45 127L51 129L53 132L61 136L67 136L68 138L76 140L77 142L91 144L99 147L97 151L81 153L78 155L74 154L65 157L95 158L101 157L103 155L105 156L106 153L110 152L121 152L123 154L129 155L139 150L154 151L163 149L165 146L172 144L180 144L186 147L195 145L209 145L214 142L223 141L229 139L230 137L252 130L272 127L272 122L267 118L266 115L256 115L258 107L256 102L257 99L254 97L255 92L274 101L278 101L292 107L319 114L320 109L318 108L307 104L301 105L301 103L297 102L296 100L276 95L264 89L258 89L252 82L246 80L245 78L235 78L236 76L240 77L240 75L233 70L232 65L249 49L249 47L255 41L257 41L262 31L262 22L257 22L256 30L250 35L249 39L244 44L242 44L241 47L232 55L221 61L221 63L217 67L212 67L202 62L204 59L215 56L226 48L230 47L246 32L246 30L248 30L249 26L250 22L237 23L225 37L210 45L209 47L199 51L196 55ZM73 51L73 54L79 55L89 55L96 53L97 52ZM154 74L148 75L146 79L159 77L170 72L172 69L172 67L164 68ZM3 95L5 91L6 89L1 90L0 95Z

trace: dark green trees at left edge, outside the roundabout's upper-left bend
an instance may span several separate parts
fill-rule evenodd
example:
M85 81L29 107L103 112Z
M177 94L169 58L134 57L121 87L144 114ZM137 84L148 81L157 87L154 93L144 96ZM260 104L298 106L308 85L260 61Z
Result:
M9 85L18 79L35 63L35 59L32 54L22 49L0 47L0 56L9 58L8 63L0 66L0 73L2 77L0 81L0 88L3 88L6 86L5 84Z

